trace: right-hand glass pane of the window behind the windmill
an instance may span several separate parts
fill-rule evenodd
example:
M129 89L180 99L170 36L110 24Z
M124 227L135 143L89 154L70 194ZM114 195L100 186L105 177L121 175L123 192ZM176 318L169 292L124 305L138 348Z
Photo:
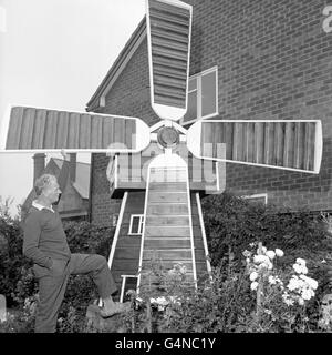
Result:
M201 116L217 111L216 72L201 77Z

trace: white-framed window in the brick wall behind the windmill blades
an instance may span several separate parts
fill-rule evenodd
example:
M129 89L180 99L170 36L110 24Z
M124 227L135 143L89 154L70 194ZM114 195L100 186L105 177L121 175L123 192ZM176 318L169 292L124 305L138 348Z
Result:
M218 68L205 70L189 78L188 109L181 124L218 114Z

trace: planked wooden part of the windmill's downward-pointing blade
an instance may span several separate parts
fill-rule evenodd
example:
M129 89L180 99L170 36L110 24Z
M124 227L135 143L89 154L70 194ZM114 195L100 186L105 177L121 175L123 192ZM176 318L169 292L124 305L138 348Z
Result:
M151 168L146 192L145 227L138 277L138 288L158 278L148 275L152 260L162 263L163 270L175 264L186 266L186 282L196 283L191 209L188 193L187 166ZM147 277L148 276L148 277Z

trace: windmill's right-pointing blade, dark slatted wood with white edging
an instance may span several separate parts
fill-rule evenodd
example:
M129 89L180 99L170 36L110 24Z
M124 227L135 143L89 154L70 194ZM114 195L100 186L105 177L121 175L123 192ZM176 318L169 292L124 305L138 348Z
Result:
M198 121L187 133L189 151L200 159L319 173L319 120Z

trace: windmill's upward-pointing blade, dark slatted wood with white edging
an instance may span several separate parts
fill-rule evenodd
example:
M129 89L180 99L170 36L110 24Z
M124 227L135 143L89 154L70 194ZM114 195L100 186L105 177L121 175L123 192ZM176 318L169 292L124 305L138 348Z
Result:
M151 102L162 119L187 112L191 14L178 0L146 0Z

